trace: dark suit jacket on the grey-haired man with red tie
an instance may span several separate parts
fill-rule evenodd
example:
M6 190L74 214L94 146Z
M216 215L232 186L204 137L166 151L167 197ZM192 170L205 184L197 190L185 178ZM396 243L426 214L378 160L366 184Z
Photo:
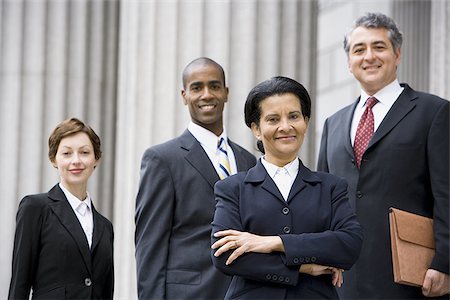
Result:
M344 177L364 229L361 256L344 274L347 299L423 297L395 284L389 207L434 217L432 269L449 272L449 102L405 89L374 133L358 171L350 142L354 103L325 122L318 169Z

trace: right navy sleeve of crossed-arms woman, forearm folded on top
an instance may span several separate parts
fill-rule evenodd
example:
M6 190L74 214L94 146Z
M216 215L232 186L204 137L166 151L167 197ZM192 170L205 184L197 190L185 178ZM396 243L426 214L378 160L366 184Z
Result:
M331 175L327 174L328 178ZM331 203L331 222L323 232L285 234L283 240L286 264L298 265L301 258L308 257L314 263L348 270L359 257L362 246L362 228L350 207L347 197L347 183L343 179L324 181L329 191ZM325 183L326 182L326 183ZM326 194L324 192L324 194Z

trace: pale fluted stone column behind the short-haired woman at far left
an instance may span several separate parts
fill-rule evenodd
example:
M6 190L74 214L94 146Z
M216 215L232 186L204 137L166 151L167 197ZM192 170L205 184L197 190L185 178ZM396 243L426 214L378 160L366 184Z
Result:
M89 184L111 218L118 1L0 1L0 299L7 298L20 199L58 181L47 140L78 117L100 135L104 158Z

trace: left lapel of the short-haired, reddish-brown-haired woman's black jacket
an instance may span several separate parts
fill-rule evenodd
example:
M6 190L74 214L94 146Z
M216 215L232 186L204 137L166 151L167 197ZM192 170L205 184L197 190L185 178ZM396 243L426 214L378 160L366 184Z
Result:
M74 239L81 256L83 257L86 268L91 272L91 252L89 251L86 235L84 234L83 228L70 206L69 201L67 201L64 192L56 185L48 192L48 196L50 199L54 200L54 202L50 204L51 209L58 217L61 224L66 228L70 236Z

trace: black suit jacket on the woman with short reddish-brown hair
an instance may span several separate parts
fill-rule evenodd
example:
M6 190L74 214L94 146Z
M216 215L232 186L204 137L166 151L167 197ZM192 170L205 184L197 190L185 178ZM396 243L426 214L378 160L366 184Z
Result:
M59 185L17 212L8 299L112 299L113 226L92 205L92 247Z

